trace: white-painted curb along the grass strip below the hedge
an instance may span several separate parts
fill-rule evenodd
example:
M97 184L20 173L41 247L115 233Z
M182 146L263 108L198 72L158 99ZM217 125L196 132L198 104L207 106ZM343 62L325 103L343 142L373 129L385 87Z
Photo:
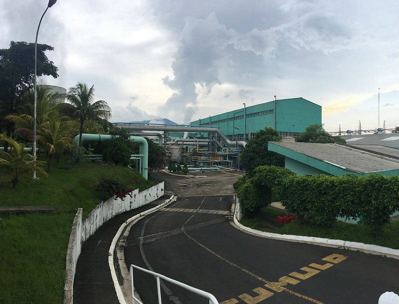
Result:
M255 230L252 228L248 228L240 224L237 218L234 216L234 224L242 231L248 232L250 234L258 235L264 238L273 239L273 240L280 240L280 241L288 241L288 242L296 242L296 243L305 243L305 244L312 244L318 246L325 246L325 247L333 247L333 248L340 248L340 249L347 249L353 251L361 251L367 254L378 255L378 256L385 256L389 258L394 258L399 260L399 250L392 249L377 245L368 245L363 243L357 242L347 242L342 240L330 240L324 238L315 238L315 237L304 237L304 236L292 236L292 235L284 235L284 234L277 234L271 232L263 232L259 230Z

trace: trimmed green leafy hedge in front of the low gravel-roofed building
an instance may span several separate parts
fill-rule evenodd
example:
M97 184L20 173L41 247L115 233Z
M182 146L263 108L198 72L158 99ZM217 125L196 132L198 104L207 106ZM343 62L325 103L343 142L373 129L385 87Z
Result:
M246 216L269 205L272 193L299 223L320 226L334 226L337 217L360 218L378 233L399 211L398 176L300 176L286 168L260 166L252 178L240 178L234 187Z

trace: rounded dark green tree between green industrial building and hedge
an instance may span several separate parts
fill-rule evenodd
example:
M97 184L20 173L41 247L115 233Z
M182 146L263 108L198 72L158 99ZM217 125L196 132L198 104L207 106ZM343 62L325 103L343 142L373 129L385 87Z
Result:
M240 154L240 162L246 170L247 176L252 176L253 170L258 166L273 165L284 167L284 156L267 150L269 141L278 141L278 132L271 127L254 133L248 140L244 151Z

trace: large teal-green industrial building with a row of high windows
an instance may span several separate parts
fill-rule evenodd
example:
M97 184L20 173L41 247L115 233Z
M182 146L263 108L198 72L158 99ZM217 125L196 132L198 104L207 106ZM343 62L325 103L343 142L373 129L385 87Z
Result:
M321 124L321 106L302 97L277 99L209 116L191 125L218 127L230 140L247 140L256 131L272 127L280 138L298 136L311 124ZM244 135L245 133L245 135ZM207 133L200 134L203 138Z

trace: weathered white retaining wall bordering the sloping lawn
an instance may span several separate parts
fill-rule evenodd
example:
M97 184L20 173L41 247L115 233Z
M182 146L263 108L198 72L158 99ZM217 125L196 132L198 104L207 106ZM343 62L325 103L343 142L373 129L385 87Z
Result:
M139 192L138 189L124 200L109 199L100 203L82 221L82 209L79 208L72 224L66 255L64 304L73 304L73 280L82 243L90 238L105 222L114 216L151 203L164 195L164 182Z

